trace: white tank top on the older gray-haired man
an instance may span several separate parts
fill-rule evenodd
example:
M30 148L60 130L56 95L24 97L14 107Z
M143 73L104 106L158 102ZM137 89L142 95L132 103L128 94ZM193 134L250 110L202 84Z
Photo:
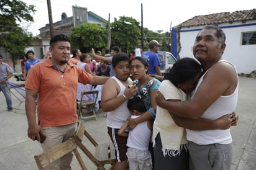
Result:
M220 60L219 62L229 63L228 61L225 61L225 60ZM204 73L203 76L199 79L196 89L194 90L193 96L196 93L198 86L202 83L206 73ZM238 79L238 76L237 76L237 79ZM191 98L193 98L193 96ZM234 112L235 107L237 105L237 98L238 98L238 83L233 94L229 96L220 96L219 99L217 99L204 112L204 114L201 117L204 119L216 120L222 115L231 114L232 112ZM230 128L226 130L217 129L217 130L200 130L200 131L186 129L186 133L187 133L186 135L187 139L189 141L193 141L194 143L197 143L198 145L208 145L213 143L220 143L220 144L232 143Z

